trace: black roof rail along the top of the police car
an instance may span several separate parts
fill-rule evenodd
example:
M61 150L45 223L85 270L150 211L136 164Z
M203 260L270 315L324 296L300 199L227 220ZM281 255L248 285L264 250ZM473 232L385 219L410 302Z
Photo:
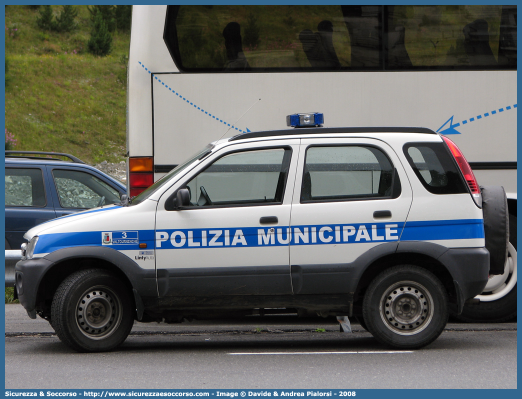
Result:
M260 132L240 133L229 138L229 142L243 138L289 136L294 134L332 134L332 133L425 133L438 134L428 127L398 127L398 126L375 126L375 127L307 127L283 130L270 130Z

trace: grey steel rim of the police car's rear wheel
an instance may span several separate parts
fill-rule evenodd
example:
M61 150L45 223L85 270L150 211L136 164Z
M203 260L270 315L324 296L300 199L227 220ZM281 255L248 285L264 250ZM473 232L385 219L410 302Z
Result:
M433 298L421 284L400 281L388 287L379 303L386 327L400 335L418 334L433 319Z

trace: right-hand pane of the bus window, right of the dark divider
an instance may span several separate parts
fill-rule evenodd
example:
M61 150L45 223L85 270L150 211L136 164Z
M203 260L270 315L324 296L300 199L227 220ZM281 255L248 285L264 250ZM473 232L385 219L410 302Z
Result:
M499 5L483 6L389 6L388 42L393 49L397 33L408 52L412 66L495 68L508 14ZM515 11L516 15L516 11ZM516 28L516 25L515 25ZM388 66L396 66L394 52Z

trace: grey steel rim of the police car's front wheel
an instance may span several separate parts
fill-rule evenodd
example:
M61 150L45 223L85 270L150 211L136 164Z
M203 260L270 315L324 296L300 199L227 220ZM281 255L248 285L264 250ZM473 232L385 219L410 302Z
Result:
M109 287L89 288L76 304L76 323L81 333L90 339L109 337L121 321L122 302Z

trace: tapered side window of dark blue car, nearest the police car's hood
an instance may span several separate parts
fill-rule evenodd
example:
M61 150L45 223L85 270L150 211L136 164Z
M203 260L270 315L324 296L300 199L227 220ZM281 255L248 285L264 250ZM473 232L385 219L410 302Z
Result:
M54 182L63 208L90 209L120 202L120 193L90 173L53 170Z

